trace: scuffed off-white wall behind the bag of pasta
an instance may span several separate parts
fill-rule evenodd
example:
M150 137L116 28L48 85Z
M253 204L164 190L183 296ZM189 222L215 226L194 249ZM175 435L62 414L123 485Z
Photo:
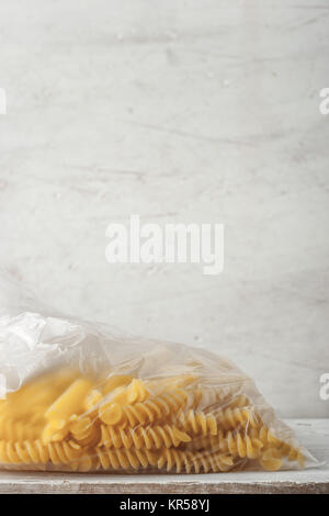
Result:
M53 304L226 354L328 416L329 3L0 4L0 265ZM127 221L226 224L225 270L109 265Z

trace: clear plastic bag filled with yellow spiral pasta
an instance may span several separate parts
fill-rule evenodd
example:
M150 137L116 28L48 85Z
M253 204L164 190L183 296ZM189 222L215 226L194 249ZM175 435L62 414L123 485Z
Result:
M2 281L1 468L204 473L315 464L228 360L63 316Z

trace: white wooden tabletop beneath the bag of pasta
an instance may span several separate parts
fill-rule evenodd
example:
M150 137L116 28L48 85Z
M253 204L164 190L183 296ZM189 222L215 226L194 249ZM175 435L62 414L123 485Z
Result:
M290 419L299 440L326 464L304 471L190 475L0 472L0 493L329 493L329 419Z

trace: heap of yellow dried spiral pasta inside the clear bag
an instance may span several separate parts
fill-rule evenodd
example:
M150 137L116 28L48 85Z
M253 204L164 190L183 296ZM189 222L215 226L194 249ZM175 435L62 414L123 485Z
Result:
M52 371L0 401L0 463L14 468L202 473L256 462L276 471L304 456L236 382Z

